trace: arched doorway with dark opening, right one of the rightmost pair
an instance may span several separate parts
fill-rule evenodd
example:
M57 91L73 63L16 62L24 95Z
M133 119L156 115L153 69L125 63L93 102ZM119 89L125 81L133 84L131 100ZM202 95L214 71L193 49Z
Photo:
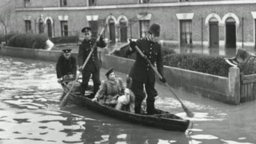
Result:
M228 17L225 21L226 26L226 42L227 48L236 48L236 20Z

